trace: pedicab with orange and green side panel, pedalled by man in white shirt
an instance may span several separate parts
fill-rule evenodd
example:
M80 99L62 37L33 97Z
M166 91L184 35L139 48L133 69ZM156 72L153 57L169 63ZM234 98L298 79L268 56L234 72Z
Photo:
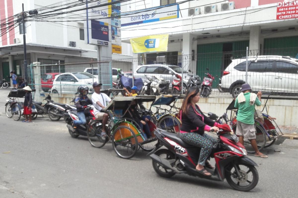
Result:
M147 122L152 137L146 139L138 123L124 115L131 113L130 107L132 104L151 102L152 105L155 100L156 96L130 96L116 97L113 99L107 107L103 109L103 112L109 114L107 135L105 137L101 136L101 123L94 120L94 122L97 122L97 127L94 127L94 130L89 129L87 133L91 145L101 148L106 142L111 140L114 151L119 157L124 159L133 157L140 148L144 151L152 151L157 143L153 133L156 129L156 125L150 120Z

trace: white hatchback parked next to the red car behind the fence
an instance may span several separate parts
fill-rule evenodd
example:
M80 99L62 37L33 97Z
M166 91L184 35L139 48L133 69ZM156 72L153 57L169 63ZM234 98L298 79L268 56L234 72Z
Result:
M63 73L55 76L51 93L53 94L75 94L80 85L89 88L89 92L93 91L92 83L97 81L93 75L87 72Z

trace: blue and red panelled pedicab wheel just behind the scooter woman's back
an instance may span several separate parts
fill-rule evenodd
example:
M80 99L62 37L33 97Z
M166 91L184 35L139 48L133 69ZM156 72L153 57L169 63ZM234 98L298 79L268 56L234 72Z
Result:
M172 115L161 117L158 120L158 124L159 128L166 130L167 132L179 133L180 131L180 121Z

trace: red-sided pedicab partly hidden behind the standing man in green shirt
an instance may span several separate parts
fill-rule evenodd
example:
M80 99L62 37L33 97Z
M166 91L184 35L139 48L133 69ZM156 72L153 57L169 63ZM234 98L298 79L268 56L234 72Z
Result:
M266 104L269 99L269 96L270 95L268 95L266 102L264 104L263 110L261 111L263 113L263 119L260 120L256 118L256 113L255 113L254 127L256 129L256 141L257 141L257 146L259 151L262 150L263 148L267 148L273 145L274 142L277 140L277 138L280 135L283 135L277 123L274 120L270 120L269 118L266 117L266 115L268 115ZM235 99L233 99L233 101L226 108L226 113L230 111L229 124L232 127L233 131L236 133L238 108L235 108L234 105L235 105ZM264 112L265 109L266 109L266 112ZM245 138L244 138L244 146L248 153L255 152L249 140Z

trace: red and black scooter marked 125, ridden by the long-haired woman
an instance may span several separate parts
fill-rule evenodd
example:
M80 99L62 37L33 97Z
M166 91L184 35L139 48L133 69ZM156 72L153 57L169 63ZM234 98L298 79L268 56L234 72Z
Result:
M158 143L148 155L152 158L154 170L162 177L172 177L176 173L185 173L215 181L227 182L234 189L249 191L259 180L255 168L257 164L246 157L246 149L240 144L238 137L230 135L231 128L227 124L219 124L218 142L213 145L210 157L215 159L215 170L207 169L212 175L205 176L195 170L201 148L183 142L179 134L156 129ZM165 146L167 149L159 149ZM157 151L156 151L157 150ZM154 152L154 153L153 153ZM153 154L152 154L153 153Z

